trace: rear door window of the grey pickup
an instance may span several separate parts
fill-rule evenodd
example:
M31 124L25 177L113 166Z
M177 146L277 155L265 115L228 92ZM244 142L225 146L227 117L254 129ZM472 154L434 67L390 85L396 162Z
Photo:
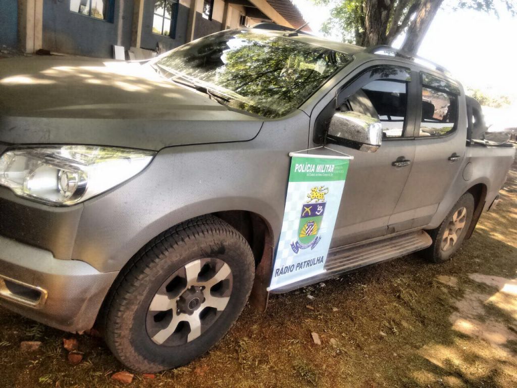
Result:
M422 86L422 120L419 137L444 136L456 128L458 98L448 92Z

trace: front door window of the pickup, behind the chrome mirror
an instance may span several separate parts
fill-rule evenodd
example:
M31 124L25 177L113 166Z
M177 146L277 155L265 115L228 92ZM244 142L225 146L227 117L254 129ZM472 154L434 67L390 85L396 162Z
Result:
M383 124L385 138L400 138L407 109L407 82L376 80L348 98L351 110L369 115Z

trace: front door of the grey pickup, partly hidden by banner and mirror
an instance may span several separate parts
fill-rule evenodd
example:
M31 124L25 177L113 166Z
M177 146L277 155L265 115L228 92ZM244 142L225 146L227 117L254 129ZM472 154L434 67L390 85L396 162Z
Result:
M331 247L351 244L387 233L389 217L400 198L415 154L415 113L408 108L412 72L399 66L370 67L351 84L345 84L337 99L318 115L318 128L336 110L352 110L381 120L384 135L374 153L336 144L330 147L354 156L346 177ZM314 146L318 140L313 139ZM395 163L395 164L394 164Z

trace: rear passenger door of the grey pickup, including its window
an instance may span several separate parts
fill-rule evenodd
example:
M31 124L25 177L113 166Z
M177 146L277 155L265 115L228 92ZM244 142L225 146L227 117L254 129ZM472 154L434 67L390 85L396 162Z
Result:
M463 165L467 123L459 86L420 72L418 95L415 160L389 232L428 225Z

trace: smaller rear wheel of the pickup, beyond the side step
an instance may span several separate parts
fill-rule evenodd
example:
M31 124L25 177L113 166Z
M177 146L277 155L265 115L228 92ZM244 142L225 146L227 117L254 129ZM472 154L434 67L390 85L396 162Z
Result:
M428 232L433 239L433 244L423 251L424 257L433 263L449 260L463 243L473 214L474 197L467 192L452 206L440 226ZM463 226L458 228L460 225Z

